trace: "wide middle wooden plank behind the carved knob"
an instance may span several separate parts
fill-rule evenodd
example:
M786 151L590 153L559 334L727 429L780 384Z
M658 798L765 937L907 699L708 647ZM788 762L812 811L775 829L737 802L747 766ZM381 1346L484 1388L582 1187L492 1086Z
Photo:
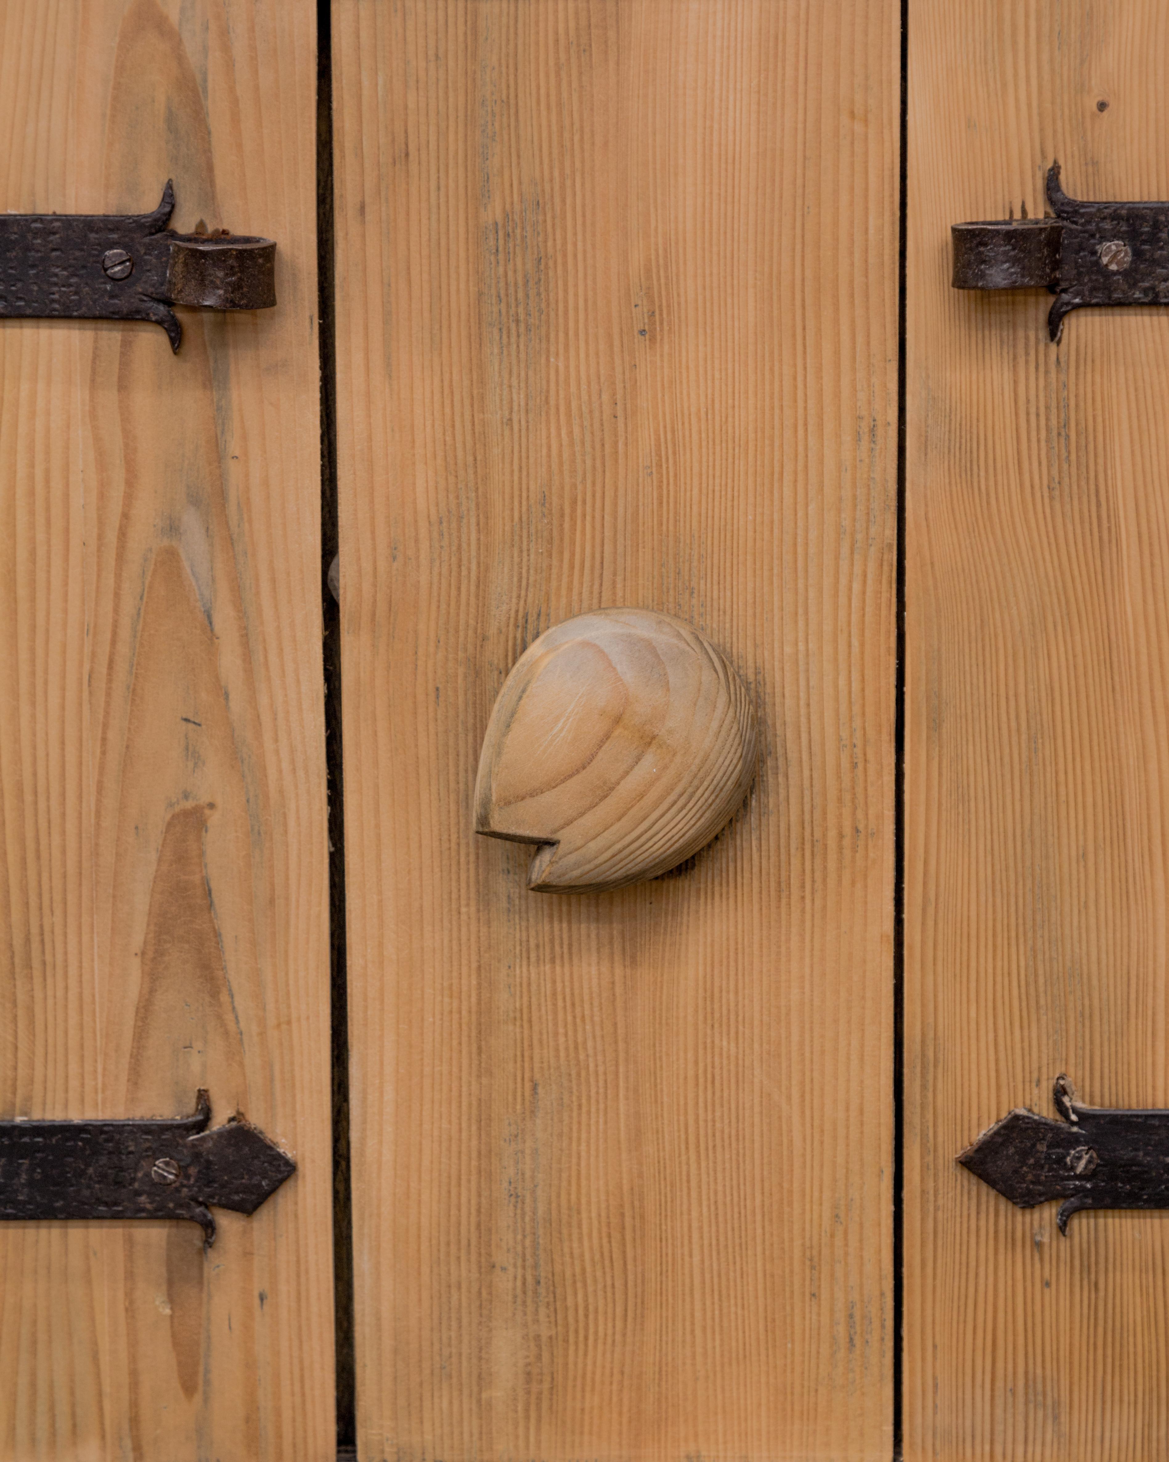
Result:
M361 1455L887 1458L897 6L333 16ZM533 898L479 746L606 604L760 776Z

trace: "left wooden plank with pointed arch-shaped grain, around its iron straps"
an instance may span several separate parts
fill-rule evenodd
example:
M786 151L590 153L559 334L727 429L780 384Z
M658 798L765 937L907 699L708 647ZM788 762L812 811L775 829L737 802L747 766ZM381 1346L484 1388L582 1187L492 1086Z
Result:
M0 1225L0 1458L335 1455L314 7L10 0L0 206L279 244L279 306L0 325L0 1111L243 1110L253 1218Z

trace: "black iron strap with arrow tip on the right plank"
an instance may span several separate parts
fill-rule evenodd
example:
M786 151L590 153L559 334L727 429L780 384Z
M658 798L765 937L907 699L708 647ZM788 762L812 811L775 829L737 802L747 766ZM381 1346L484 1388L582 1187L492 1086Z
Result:
M1018 1208L1064 1199L1056 1222L1083 1208L1169 1208L1169 1111L1084 1107L1055 1079L1062 1121L1016 1108L957 1161Z

